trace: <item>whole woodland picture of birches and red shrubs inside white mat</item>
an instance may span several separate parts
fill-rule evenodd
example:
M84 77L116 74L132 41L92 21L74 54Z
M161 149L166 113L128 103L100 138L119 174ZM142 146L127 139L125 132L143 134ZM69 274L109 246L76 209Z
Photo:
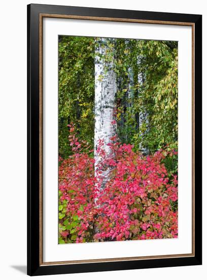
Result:
M59 243L177 237L178 43L59 36L58 102Z

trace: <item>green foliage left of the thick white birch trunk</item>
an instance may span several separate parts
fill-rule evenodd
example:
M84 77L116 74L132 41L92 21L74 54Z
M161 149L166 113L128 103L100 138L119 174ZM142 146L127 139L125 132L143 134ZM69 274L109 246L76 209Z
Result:
M93 145L94 38L59 36L59 155L71 154L67 124Z

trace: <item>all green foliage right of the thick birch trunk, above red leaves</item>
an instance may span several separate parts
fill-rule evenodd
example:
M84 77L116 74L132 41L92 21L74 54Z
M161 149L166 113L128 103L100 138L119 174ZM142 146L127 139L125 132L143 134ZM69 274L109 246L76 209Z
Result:
M134 144L135 149L142 143L151 153L167 144L177 148L177 42L118 39L117 47L117 116L122 142ZM129 80L130 69L133 85ZM142 82L138 79L140 74ZM139 115L143 112L147 119L139 126Z

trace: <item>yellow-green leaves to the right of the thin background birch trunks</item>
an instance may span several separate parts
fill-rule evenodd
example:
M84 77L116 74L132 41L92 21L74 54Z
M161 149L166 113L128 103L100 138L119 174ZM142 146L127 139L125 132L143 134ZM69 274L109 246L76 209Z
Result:
M151 152L167 144L177 149L178 139L178 49L177 44L149 41L146 55L146 80L140 106L149 112L149 132L145 143ZM146 45L145 45L146 46ZM172 48L175 46L175 48ZM153 51L153 52L152 52ZM144 53L146 53L145 50ZM141 66L143 67L143 66Z

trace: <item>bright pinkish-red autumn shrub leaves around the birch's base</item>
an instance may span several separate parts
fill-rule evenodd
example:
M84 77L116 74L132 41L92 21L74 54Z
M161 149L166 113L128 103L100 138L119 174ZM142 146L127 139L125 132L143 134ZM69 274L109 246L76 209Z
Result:
M59 158L59 243L178 237L178 181L164 161L176 151L143 156L113 137L111 154L99 141L94 172L91 147L70 125L73 154ZM110 179L102 187L102 172Z

